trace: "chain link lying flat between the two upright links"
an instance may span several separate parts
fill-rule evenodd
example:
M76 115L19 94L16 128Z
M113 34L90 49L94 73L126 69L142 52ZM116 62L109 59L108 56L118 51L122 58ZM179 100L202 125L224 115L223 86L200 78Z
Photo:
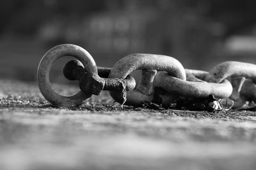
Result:
M154 80L154 87L161 87L166 91L166 94L155 94L155 97L158 97L158 101L161 101L163 105L168 105L178 98L180 100L180 98L185 97L185 99L193 99L192 101L190 100L191 103L195 103L198 99L206 101L205 110L222 109L217 99L227 98L232 94L232 85L230 82L224 80L221 83L207 83L204 81L205 76L208 74L206 71L185 70L188 78L187 81L179 80L164 72L157 73ZM217 99L209 101L209 96L214 96ZM212 99L214 97L212 97Z

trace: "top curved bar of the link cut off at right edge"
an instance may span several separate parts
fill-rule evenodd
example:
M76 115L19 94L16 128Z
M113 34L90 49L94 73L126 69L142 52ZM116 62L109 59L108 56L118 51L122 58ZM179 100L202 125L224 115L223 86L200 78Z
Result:
M220 83L229 76L244 76L256 80L256 65L247 62L227 61L213 67L205 81Z

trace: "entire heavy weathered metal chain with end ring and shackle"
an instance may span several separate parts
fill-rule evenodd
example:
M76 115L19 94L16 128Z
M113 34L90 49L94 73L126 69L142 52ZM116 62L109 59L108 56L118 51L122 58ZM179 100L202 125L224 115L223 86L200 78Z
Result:
M63 68L68 80L79 81L79 91L73 96L56 93L49 81L55 60L72 56ZM141 70L141 80L130 75ZM256 65L228 61L218 64L209 72L184 69L173 57L136 53L118 60L112 68L97 67L93 57L77 45L58 45L45 53L38 66L38 86L43 96L57 106L79 106L102 90L120 104L144 106L193 106L203 110L254 107L256 102ZM229 80L227 79L229 78ZM144 105L143 105L144 104ZM178 107L179 106L179 107ZM247 108L248 108L247 107ZM188 107L187 107L188 108Z

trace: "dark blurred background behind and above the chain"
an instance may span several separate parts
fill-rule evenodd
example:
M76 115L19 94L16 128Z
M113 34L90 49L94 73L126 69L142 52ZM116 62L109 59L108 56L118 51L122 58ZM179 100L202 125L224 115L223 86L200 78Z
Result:
M245 0L0 1L0 77L35 81L44 53L61 43L82 46L97 66L112 67L130 53L170 55L205 71L225 60L256 63L255 6ZM54 80L63 78L63 63L52 68Z

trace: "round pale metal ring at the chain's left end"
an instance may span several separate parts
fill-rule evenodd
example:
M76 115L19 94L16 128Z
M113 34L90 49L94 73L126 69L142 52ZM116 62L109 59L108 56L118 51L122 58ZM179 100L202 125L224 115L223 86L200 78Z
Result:
M38 86L45 99L51 104L65 107L77 106L84 103L92 95L79 91L74 96L61 96L55 92L49 80L49 73L53 62L64 56L76 57L76 59L83 63L88 73L97 73L95 61L86 50L77 45L58 45L45 53L40 61L37 71Z

